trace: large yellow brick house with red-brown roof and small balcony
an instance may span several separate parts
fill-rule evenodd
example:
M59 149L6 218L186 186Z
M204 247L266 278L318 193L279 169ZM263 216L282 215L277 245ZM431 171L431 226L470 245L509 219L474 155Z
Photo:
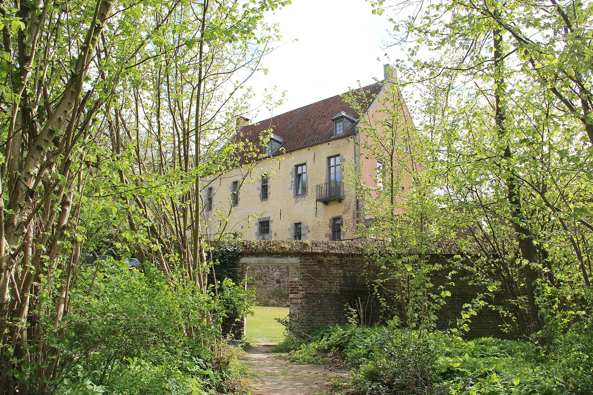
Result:
M357 101L371 120L384 91L385 80L359 88ZM366 220L355 186L346 180L344 166L362 173L369 188L377 187L381 163L361 160L357 111L336 95L288 113L240 127L235 139L257 142L269 137L266 158L205 180L203 207L208 232L225 226L246 240L348 240L351 229ZM230 213L230 216L229 216ZM224 224L222 217L229 220Z

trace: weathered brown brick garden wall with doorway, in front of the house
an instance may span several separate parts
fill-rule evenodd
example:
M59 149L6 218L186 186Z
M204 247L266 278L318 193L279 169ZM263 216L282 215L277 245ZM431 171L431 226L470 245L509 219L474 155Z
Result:
M380 248L380 245L377 245ZM456 251L448 245L441 245L439 255L433 253L431 259L446 262L448 256ZM347 242L329 241L281 241L258 240L243 242L243 257L270 258L298 258L298 264L286 264L284 271L279 265L260 265L257 271L248 266L248 277L253 273L264 274L268 285L273 285L280 274L288 274L289 307L291 313L298 313L302 325L308 330L318 329L335 323L346 323L346 306L362 310L366 323L378 322L380 311L374 300L369 284L375 278L372 264L365 258L365 242L354 240ZM282 267L282 266L280 266ZM439 285L451 292L447 304L436 312L437 327L445 329L455 323L461 316L466 303L479 293L479 289L470 286L462 280L463 274L456 275L454 285L447 285L446 272L436 272L431 281L433 290ZM283 284L284 280L280 280ZM276 283L278 284L278 283ZM263 285L263 282L262 282ZM262 286L260 285L260 286ZM256 285L257 287L257 285ZM262 287L263 288L263 287ZM389 291L389 290L387 290ZM263 295L262 295L263 296ZM471 318L471 330L467 333L471 337L497 336L508 338L499 325L502 320L498 313L490 309L483 309L477 316Z

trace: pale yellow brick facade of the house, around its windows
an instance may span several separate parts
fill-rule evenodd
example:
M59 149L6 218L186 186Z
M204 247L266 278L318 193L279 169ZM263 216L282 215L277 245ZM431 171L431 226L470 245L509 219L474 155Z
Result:
M375 101L370 106L368 120L384 117L384 114L376 112L379 105ZM356 158L363 181L371 188L375 187L374 175L377 173L377 160L360 156L360 148L355 141L359 142L361 138L364 136L359 133L334 137L313 146L274 155L257 165L246 165L207 181L202 198L207 204L208 188L212 188L212 210L206 214L209 234L221 232L225 226L225 221L221 219L228 217L224 232L234 232L246 240L294 240L295 222L302 224L302 240L330 240L330 221L341 217L341 239L352 239L350 230L355 225L356 216L359 223L365 220L365 216L356 211L354 187L347 182L343 165ZM328 158L334 155L340 155L345 199L323 204L315 201L315 186L329 182ZM297 195L295 166L303 163L307 164L307 192ZM261 198L262 174L269 175L269 196L265 200ZM231 185L234 181L242 184L238 204L231 207ZM261 220L270 221L270 232L264 236L259 235L258 223Z

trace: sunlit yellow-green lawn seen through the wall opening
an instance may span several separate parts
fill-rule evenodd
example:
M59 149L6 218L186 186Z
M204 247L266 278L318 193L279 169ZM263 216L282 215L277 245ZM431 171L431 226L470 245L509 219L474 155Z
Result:
M288 316L288 307L253 307L254 316L247 317L247 339L251 343L278 344L284 340L284 327L275 318Z

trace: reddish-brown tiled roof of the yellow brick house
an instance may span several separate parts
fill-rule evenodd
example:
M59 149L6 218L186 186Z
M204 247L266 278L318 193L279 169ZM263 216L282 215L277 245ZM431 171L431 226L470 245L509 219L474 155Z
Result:
M355 97L358 98L359 104L364 106L362 108L363 111L366 112L368 110L374 98L381 91L381 87L382 84L377 82L355 90ZM238 133L235 138L243 141L248 139L250 142L258 142L259 136L264 130L272 129L272 132L276 136L284 139L282 147L284 147L286 152L291 152L295 149L333 139L333 121L331 118L334 118L340 111L353 118L358 118L356 111L349 104L346 104L340 95L336 95L313 104L305 105L305 107L288 111L288 113L259 121L256 124L243 126L241 133ZM344 135L350 134L353 131L353 128L346 130Z

